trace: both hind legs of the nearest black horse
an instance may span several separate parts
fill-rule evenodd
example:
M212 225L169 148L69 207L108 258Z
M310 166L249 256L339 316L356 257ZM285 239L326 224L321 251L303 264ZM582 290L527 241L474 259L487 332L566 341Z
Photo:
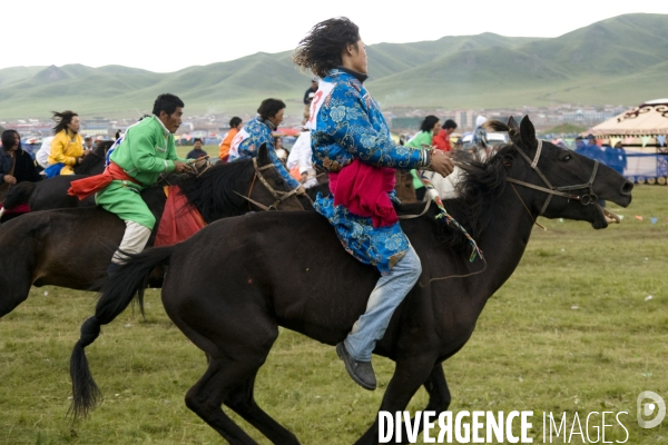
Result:
M183 294L175 295L183 297ZM189 303L196 299L189 298ZM276 322L262 312L247 309L237 318L222 322L217 314L240 310L225 300L216 300L222 305L209 306L202 312L193 307L183 310L181 301L170 298L169 285L163 293L163 301L171 320L209 356L207 372L186 395L188 408L230 444L256 442L225 414L223 403L238 411L269 438L285 438L279 443L298 444L292 434L262 412L253 400L255 375L278 337Z

